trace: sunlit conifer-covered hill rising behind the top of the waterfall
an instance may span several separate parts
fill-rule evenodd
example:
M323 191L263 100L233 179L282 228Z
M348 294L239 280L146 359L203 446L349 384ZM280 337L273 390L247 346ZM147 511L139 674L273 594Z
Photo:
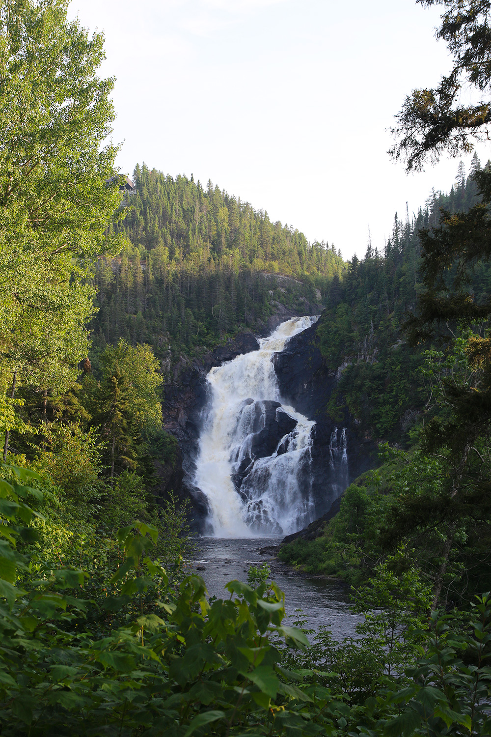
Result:
M240 329L261 332L275 301L305 313L322 301L346 265L266 212L255 212L208 182L137 166L138 195L117 228L124 248L97 262L93 284L98 347L126 338L159 356L216 346ZM288 276L280 279L277 275Z

